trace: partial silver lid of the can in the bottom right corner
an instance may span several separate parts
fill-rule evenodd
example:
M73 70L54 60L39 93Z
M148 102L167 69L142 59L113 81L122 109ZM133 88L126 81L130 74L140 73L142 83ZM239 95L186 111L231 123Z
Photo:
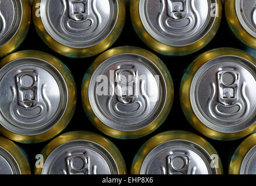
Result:
M246 144L244 144L246 145ZM256 174L256 145L250 149L241 162L240 174Z

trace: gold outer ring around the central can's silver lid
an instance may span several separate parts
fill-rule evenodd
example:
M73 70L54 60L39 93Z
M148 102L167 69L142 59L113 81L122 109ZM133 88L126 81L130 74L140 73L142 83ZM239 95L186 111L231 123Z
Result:
M166 96L166 98L162 98L165 100L165 103L162 110L160 111L159 116L154 121L151 121L151 123L149 123L146 127L143 127L139 130L134 130L134 131L121 131L121 130L116 130L113 127L107 126L106 124L103 123L102 120L99 119L99 117L97 117L96 113L93 111L93 106L89 101L89 86L91 84L91 78L93 76L94 71L100 68L101 64L103 64L104 61L107 60L108 58L111 58L112 56L126 55L126 54L139 55L139 56L143 56L143 58L150 60L150 62L152 62L154 66L156 66L160 71L162 71L164 82L165 82L165 85L163 86L166 87L166 95L164 95ZM93 64L89 67L82 83L82 103L83 103L83 108L85 110L85 113L87 117L89 117L89 120L93 123L93 125L96 128L98 128L104 134L107 134L114 138L120 138L120 139L132 139L132 138L143 137L145 135L152 133L158 127L160 127L160 125L164 122L164 120L169 115L169 112L171 110L171 106L173 103L173 95L174 95L173 80L170 76L169 70L164 65L162 60L157 58L157 56L155 56L153 53L138 47L129 47L129 46L117 47L102 53L96 60L94 60Z

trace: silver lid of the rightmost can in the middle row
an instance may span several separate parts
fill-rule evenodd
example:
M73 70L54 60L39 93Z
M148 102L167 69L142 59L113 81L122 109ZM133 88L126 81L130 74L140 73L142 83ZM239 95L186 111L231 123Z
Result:
M202 65L190 91L192 109L205 126L238 133L256 122L256 67L239 56L223 55Z

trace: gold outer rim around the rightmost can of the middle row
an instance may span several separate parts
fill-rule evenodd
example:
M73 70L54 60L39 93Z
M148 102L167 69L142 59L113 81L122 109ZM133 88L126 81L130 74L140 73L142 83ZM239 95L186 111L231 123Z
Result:
M245 130L239 131L237 133L220 133L218 131L212 130L211 128L205 126L205 124L202 123L200 119L198 119L197 115L195 115L195 112L192 109L193 107L190 98L191 83L198 69L200 69L200 67L204 65L206 62L208 62L210 59L223 55L240 56L241 58L247 59L254 66L256 65L256 59L248 53L241 51L240 49L216 48L205 53L202 53L202 55L198 56L198 58L191 63L191 65L187 68L187 70L184 73L180 86L180 102L185 117L190 122L192 127L198 130L201 134L214 140L231 141L253 133L253 131L256 129L256 123L252 124Z

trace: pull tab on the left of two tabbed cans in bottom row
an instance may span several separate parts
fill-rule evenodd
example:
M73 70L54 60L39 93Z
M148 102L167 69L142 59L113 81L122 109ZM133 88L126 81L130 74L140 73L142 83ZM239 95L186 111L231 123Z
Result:
M90 158L85 154L72 155L66 158L68 174L91 174Z

